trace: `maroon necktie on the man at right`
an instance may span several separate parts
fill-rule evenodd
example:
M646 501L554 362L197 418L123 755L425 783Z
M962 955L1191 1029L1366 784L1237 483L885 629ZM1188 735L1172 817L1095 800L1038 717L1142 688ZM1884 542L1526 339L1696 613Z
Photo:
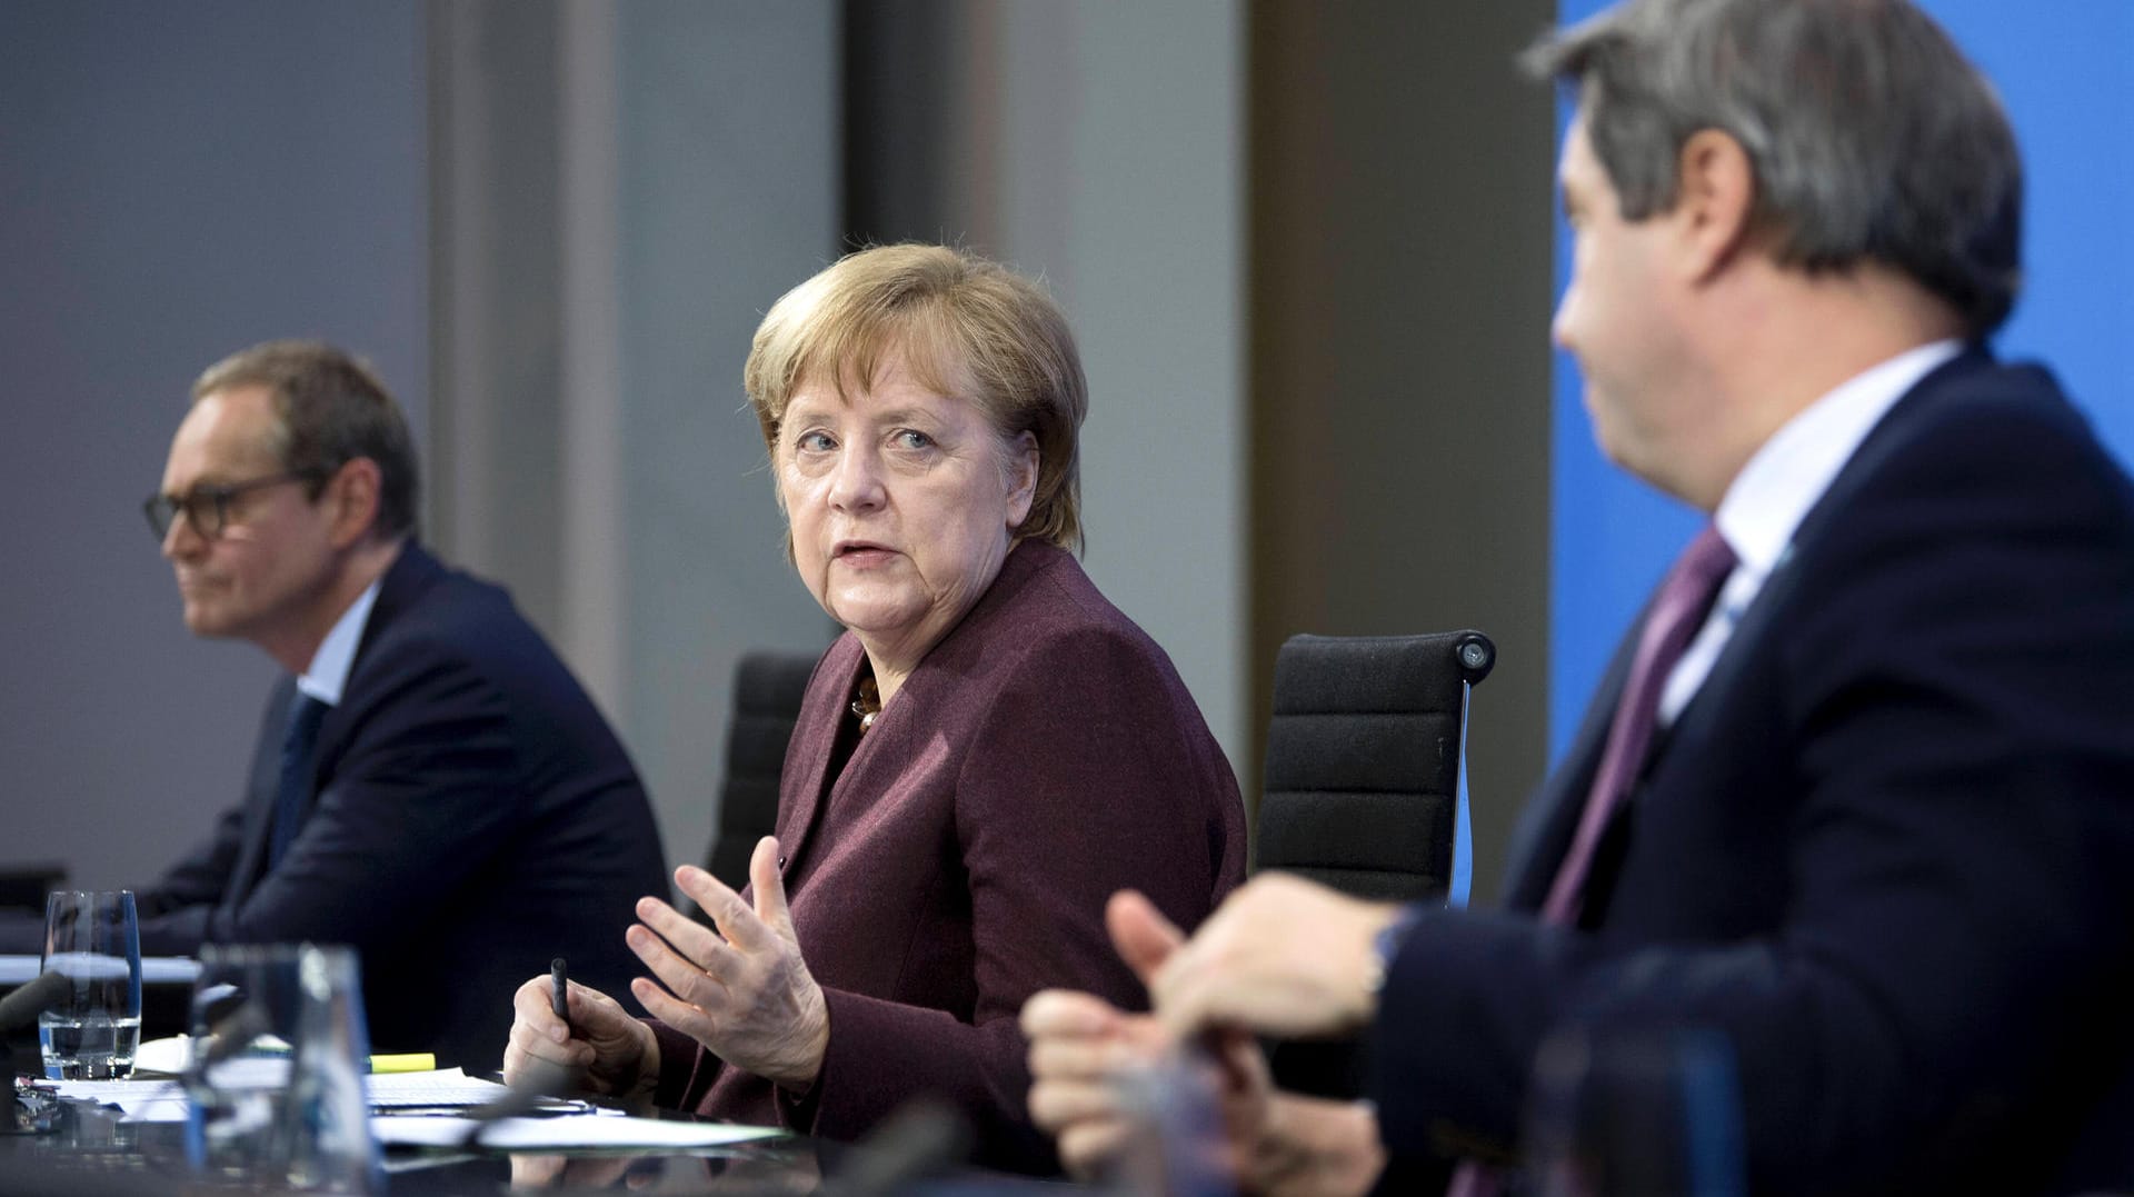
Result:
M1615 700L1615 719L1607 730L1600 768L1594 770L1594 785L1586 792L1586 811L1579 815L1571 849L1556 866L1549 898L1541 905L1541 922L1556 926L1577 922L1600 832L1607 828L1609 815L1630 794L1645 751L1652 749L1652 728L1658 723L1667 676L1675 672L1682 653L1697 638L1697 629L1703 627L1705 615L1711 610L1711 600L1720 593L1720 582L1733 568L1733 548L1726 548L1718 527L1705 525L1697 540L1682 550L1675 568L1667 572L1660 593L1652 597L1645 629L1637 638L1637 655L1630 657L1630 676L1624 681L1622 698ZM1490 1197L1500 1188L1492 1169L1462 1163L1445 1193L1447 1197Z

